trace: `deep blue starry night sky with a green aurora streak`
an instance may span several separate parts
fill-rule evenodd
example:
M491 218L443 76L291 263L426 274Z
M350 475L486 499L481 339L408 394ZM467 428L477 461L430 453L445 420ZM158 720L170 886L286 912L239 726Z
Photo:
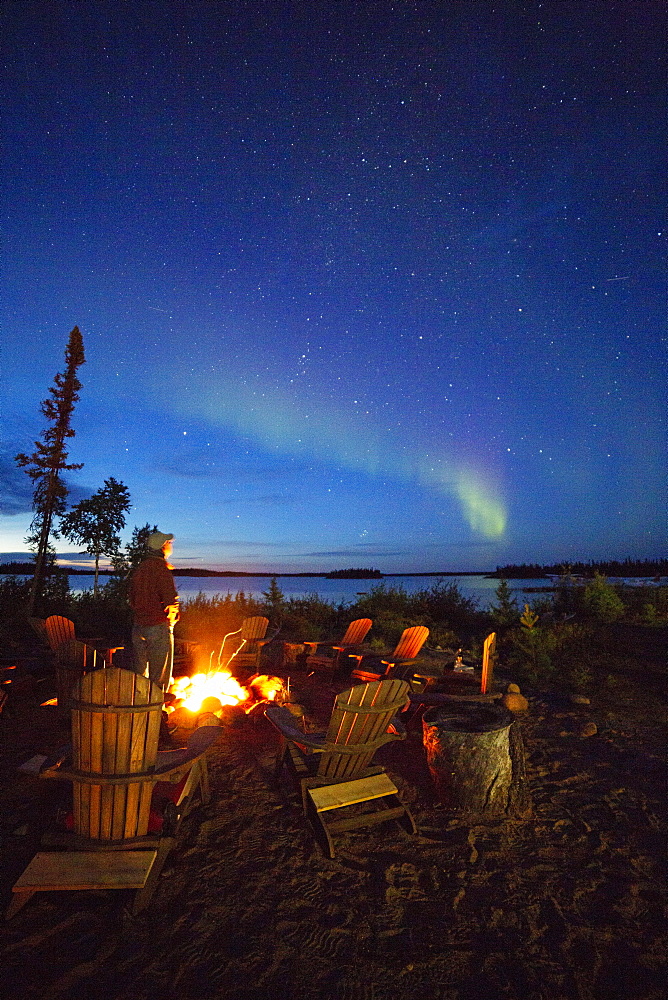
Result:
M5 0L0 550L77 324L71 502L176 566L663 555L664 27Z

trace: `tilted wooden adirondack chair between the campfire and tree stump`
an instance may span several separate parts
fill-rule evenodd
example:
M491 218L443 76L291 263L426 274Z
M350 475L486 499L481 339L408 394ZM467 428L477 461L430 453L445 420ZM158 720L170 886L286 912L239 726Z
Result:
M269 706L267 718L281 734L277 771L286 764L299 780L304 815L325 851L334 857L332 835L396 820L409 833L415 821L384 768L372 765L383 744L405 738L395 718L408 702L400 680L358 684L337 696L325 735L303 733L284 706ZM335 819L346 806L371 803L371 809ZM379 807L379 808L376 808Z

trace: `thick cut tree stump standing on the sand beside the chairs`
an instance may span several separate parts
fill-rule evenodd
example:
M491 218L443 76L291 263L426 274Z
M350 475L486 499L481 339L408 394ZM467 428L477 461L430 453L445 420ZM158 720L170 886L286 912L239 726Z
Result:
M531 811L524 746L512 712L456 702L425 712L427 763L440 800L457 816L517 818Z

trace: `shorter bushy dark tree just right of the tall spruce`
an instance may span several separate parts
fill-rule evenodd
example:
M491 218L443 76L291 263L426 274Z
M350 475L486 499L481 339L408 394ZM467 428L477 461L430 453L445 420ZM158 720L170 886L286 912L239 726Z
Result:
M110 476L97 493L82 500L60 518L61 533L71 542L85 546L86 552L95 556L95 596L100 556L118 554L121 544L118 532L125 527L125 515L130 506L127 486Z

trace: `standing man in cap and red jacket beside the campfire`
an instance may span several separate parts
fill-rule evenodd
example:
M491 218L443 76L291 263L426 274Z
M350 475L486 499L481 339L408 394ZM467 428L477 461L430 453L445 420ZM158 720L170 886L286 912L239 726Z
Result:
M146 542L146 558L130 577L133 613L132 648L138 674L148 676L163 690L172 679L174 625L179 620L179 595L171 567L174 535L154 531Z

